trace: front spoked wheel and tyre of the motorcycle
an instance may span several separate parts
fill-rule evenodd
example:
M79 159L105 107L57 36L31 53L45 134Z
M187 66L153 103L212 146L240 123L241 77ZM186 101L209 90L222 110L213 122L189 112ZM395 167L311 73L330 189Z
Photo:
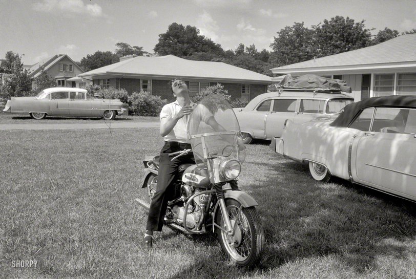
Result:
M254 207L242 208L236 200L227 199L225 205L231 225L235 226L233 236L217 229L222 250L239 266L249 266L260 261L264 246L264 231ZM218 209L217 224L225 229L221 211Z

